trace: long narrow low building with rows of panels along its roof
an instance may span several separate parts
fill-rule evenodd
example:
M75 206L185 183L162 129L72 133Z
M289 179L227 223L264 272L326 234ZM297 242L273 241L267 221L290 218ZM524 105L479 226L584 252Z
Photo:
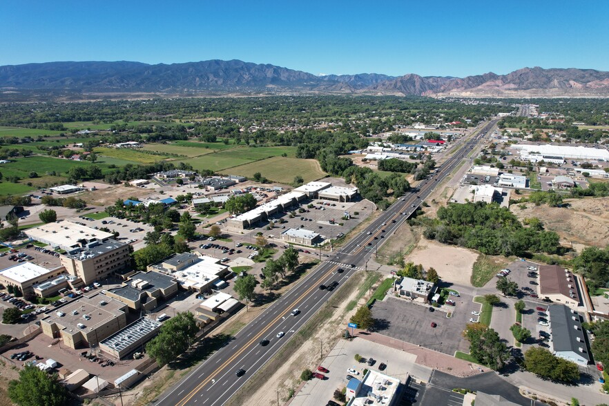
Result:
M162 323L142 317L112 336L101 340L99 348L116 360L122 360L137 349L144 349L161 329Z

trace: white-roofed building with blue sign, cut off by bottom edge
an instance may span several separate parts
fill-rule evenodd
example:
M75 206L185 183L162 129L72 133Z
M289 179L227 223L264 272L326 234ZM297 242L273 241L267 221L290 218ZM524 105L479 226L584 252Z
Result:
M409 379L408 376L405 378ZM363 380L351 378L347 382L347 406L393 406L400 396L400 380L370 369Z

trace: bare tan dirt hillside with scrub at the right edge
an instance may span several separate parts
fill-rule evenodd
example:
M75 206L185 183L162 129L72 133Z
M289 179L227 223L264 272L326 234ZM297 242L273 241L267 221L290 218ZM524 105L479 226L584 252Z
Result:
M609 197L595 199L570 199L567 209L548 207L545 204L535 206L520 204L510 208L520 220L537 217L545 229L555 231L561 240L571 242L574 247L579 244L604 247L609 240Z

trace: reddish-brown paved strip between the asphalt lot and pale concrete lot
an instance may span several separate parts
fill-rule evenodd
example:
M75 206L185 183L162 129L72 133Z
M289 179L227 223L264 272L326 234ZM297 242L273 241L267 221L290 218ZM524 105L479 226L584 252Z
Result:
M382 334L354 329L354 336L356 338L363 338L364 340L376 342L380 345L399 349L409 354L414 354L416 355L416 364L438 369L438 371L445 372L446 374L465 377L480 374L486 369L480 367L480 365L468 363L465 360L460 360L447 354L442 354L441 352L434 351L433 349L419 347L416 344L396 340L395 338L383 336Z

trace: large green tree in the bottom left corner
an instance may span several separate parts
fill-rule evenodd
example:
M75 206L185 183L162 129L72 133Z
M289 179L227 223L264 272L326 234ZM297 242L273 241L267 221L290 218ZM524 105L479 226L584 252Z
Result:
M19 380L8 383L8 397L19 406L68 404L68 391L59 383L57 374L47 374L31 366L19 371Z

